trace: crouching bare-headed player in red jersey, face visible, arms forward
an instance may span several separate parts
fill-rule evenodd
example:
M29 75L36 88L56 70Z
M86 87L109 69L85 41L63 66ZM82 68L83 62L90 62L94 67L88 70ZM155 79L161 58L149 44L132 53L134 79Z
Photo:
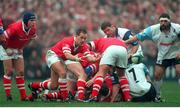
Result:
M77 77L77 89L78 89L78 100L84 98L84 87L86 83L87 75L84 72L83 67L79 63L82 58L76 56L77 53L83 53L87 56L90 51L88 45L85 43L87 39L87 31L85 28L79 28L76 31L76 35L66 37L55 44L46 54L46 62L48 67L51 69L51 82L46 83L30 83L32 91L36 91L38 88L55 90L60 87L60 93L63 100L68 99L67 91L67 79L66 69L73 72ZM96 58L87 57L89 61L96 61Z

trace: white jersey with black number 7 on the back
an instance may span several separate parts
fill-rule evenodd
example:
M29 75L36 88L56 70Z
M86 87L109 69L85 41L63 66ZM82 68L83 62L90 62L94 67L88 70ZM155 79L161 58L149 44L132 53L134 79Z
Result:
M131 64L125 71L125 76L129 81L130 93L132 96L143 96L151 87L147 82L146 75L149 73L143 64Z

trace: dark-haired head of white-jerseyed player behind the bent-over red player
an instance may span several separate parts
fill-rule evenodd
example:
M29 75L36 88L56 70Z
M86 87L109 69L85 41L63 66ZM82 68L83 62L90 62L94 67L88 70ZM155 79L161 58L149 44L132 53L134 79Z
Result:
M115 35L116 27L110 22L105 21L101 24L101 30L107 35L107 37L113 37Z

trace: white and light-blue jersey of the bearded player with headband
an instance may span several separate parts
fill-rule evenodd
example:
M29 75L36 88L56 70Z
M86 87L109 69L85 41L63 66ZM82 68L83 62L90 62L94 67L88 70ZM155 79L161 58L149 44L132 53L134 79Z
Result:
M144 29L136 36L139 40L151 39L157 43L158 57L157 61L175 58L180 53L180 25L171 23L169 33L160 31L160 24L152 25Z

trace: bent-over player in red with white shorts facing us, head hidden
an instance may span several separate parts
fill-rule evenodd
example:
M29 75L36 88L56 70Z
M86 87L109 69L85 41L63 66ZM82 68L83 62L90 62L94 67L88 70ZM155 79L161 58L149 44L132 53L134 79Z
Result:
M92 41L91 47L100 53L102 58L99 63L99 71L92 80L86 83L86 86L91 86L93 84L92 94L88 102L97 100L104 77L110 71L111 67L116 68L125 101L131 101L129 84L124 75L128 61L127 46L125 43L116 38L100 38Z

